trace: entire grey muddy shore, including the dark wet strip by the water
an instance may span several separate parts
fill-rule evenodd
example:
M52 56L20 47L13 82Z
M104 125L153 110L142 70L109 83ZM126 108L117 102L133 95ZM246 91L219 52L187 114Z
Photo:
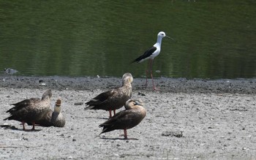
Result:
M99 137L108 112L83 110L84 102L121 85L121 77L1 75L0 124L16 129L0 128L0 159L256 159L255 79L155 82L160 91L151 91L151 83L143 88L145 79L135 77L132 98L145 103L147 115L127 131L131 140L122 140L122 131ZM62 99L64 128L23 132L19 122L2 120L10 104L48 88L52 106Z

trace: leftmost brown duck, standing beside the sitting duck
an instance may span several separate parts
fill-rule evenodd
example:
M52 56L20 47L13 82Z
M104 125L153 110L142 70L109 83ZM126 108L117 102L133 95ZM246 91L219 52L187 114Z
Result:
M51 90L45 91L42 94L42 99L31 98L25 99L21 102L12 104L15 107L12 107L10 110L7 110L7 113L10 113L10 117L5 118L5 120L15 120L22 122L23 130L25 129L24 123L32 123L34 130L34 124L36 121L39 121L48 109L50 108L50 97L52 96Z

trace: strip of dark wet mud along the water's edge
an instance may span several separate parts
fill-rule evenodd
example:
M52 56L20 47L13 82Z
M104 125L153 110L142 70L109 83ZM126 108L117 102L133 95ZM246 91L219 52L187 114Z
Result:
M229 93L256 94L256 79L203 80L186 78L156 78L161 92L171 93ZM121 85L121 77L26 77L0 75L0 87L4 88L52 88L56 90L110 89ZM151 80L145 88L145 78L136 78L132 84L134 91L152 91Z

